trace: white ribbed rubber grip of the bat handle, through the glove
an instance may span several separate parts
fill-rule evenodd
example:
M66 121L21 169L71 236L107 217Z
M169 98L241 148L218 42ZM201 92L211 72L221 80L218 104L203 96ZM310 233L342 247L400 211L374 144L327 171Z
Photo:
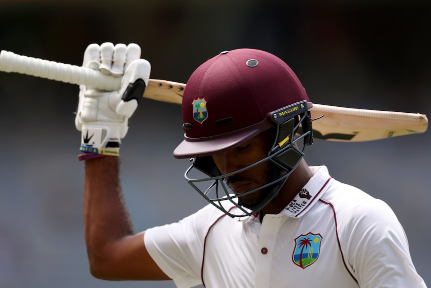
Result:
M118 90L121 87L121 77L112 77L98 70L17 55L4 50L0 52L0 71L85 85L101 90Z

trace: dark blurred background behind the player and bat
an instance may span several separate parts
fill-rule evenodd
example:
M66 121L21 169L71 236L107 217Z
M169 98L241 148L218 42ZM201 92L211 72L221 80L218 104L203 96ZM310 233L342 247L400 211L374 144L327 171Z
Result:
M0 49L80 65L90 43L134 42L151 78L185 83L224 50L284 60L314 103L431 116L429 1L0 1ZM174 287L93 278L83 238L78 87L0 73L0 287ZM121 147L137 231L206 204L183 179L180 106L143 99ZM429 132L372 142L316 140L310 165L386 201L431 283ZM427 240L428 239L428 240Z

